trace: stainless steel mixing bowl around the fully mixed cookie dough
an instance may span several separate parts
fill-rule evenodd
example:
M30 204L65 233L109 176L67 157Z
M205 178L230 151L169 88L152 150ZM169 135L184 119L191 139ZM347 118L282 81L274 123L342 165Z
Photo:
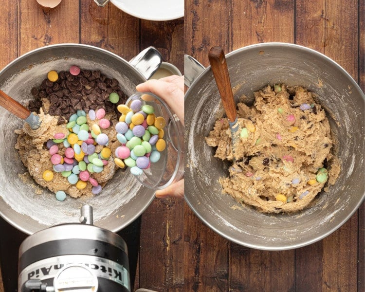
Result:
M219 92L210 67L202 70L185 56L185 83L190 86L185 95L185 200L210 228L244 246L285 250L328 236L364 200L364 93L333 60L293 44L252 45L227 54L226 60L236 101L245 94L250 103L254 91L275 83L317 93L338 140L341 173L310 208L294 215L262 214L222 194L218 179L227 176L228 164L214 158L215 149L204 141L223 113Z

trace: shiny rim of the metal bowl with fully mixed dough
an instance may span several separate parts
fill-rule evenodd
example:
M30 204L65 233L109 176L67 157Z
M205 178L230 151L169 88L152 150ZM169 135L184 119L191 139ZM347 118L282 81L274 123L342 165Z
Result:
M305 51L307 53L310 53L312 55L316 55L319 58L323 58L325 61L329 62L331 65L333 65L336 70L338 70L340 73L344 74L346 76L346 78L348 79L348 81L351 83L351 85L354 87L354 91L358 91L360 93L360 96L363 98L363 100L365 101L365 94L363 93L363 91L361 90L360 86L357 84L357 82L352 78L352 76L347 73L347 71L342 68L337 62L335 62L334 60L332 60L331 58L329 58L328 56L315 51L313 49L301 46L301 45L297 45L297 44L292 44L292 43L284 43L284 42L268 42L268 43L259 43L259 44L253 44L253 45L249 45L249 46L245 46L242 48L239 48L237 50L234 50L228 54L226 54L226 59L229 61L229 58L233 55L239 54L239 53L243 53L245 51L250 51L253 49L262 49L265 50L265 48L273 48L273 47L286 47L286 48L290 48L290 49L294 49L294 50L301 50L301 51ZM196 77L196 79L194 80L194 82L191 84L191 86L189 87L189 89L186 91L185 94L185 101L186 98L189 96L189 94L192 94L192 92L196 91L196 89L194 89L195 84L197 84L199 82L199 80L201 80L201 78L203 78L204 76L206 76L206 74L209 74L211 72L211 68L210 66L206 67L205 70L203 70L198 77ZM191 91L191 92L190 92ZM186 169L186 168L185 168ZM351 212L348 212L347 216L342 219L341 222L339 222L338 224L334 225L329 231L320 234L316 237L310 238L310 240L303 240L300 243L297 244L288 244L285 246L276 246L276 247L271 247L271 246L266 246L266 245L260 245L260 244L251 244L248 242L245 242L244 240L239 240L235 237L232 237L230 235L228 235L227 232L222 231L222 228L217 228L215 227L212 223L210 223L207 219L205 219L204 214L199 213L196 208L194 207L194 205L192 204L191 201L189 201L189 193L187 192L184 196L186 203L188 204L188 206L193 210L193 212L195 213L195 215L201 219L201 221L203 221L203 223L205 225L207 225L209 228L211 228L213 231L215 231L216 233L218 233L220 236L235 242L239 245L242 246L246 246L249 248L254 248L254 249L259 249L259 250L268 250L268 251L281 251L281 250L290 250L290 249L296 249L296 248L300 248L303 246L307 246L310 245L314 242L317 242L327 236L329 236L331 233L333 233L334 231L336 231L338 228L340 228L344 223L347 222L347 220L358 210L358 208L360 207L360 205L365 201L365 192L363 193L361 199L358 201L358 203L355 205L355 207L351 210ZM232 198L232 200L234 200ZM203 202L201 202L203 203ZM257 211L258 212L258 211Z

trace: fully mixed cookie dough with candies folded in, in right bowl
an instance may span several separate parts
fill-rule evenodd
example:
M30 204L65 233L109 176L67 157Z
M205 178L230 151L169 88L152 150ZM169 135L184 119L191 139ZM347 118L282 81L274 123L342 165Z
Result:
M340 172L325 110L299 86L268 85L254 95L252 107L237 104L234 149L227 118L206 137L215 157L236 158L219 180L223 192L265 213L302 210Z

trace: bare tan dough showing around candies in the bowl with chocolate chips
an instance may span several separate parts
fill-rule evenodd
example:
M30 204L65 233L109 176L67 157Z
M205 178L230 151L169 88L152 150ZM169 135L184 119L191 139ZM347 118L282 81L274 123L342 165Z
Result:
M45 103L46 104L46 103ZM42 174L45 170L52 170L53 164L51 163L49 150L45 146L48 140L53 139L55 133L64 133L67 135L69 130L66 128L66 123L59 124L59 116L52 116L45 114L43 109L40 109L38 114L41 126L36 130L32 130L28 124L24 124L23 128L16 130L18 134L18 140L15 148L18 149L21 161L28 168L30 175L34 180L43 187L49 188L52 192L64 191L73 198L80 197L82 195L91 196L91 183L83 189L76 188L75 184L70 184L66 177L63 177L61 173L54 172L54 178L52 181L45 181L42 178ZM111 124L115 125L117 117L115 113L109 113L106 118L111 121ZM91 128L93 124L97 124L98 119L91 121L88 118L88 125ZM116 139L116 132L114 127L103 129L103 133L109 136L109 145L111 153L114 153L115 148L118 146ZM62 157L65 153L65 147L61 144L57 144L59 147L58 154ZM96 146L96 153L101 151L102 146ZM117 167L114 164L113 159L109 159L108 164L104 166L104 169L100 173L93 173L92 177L101 185L104 186L114 175Z

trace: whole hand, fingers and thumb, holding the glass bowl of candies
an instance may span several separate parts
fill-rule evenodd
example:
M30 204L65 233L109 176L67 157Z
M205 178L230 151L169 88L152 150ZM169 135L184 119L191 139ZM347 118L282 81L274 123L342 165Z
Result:
M166 104L176 113L184 125L184 77L172 75L161 79L151 79L136 86L137 91L152 92L161 97ZM156 191L156 197L164 199L167 197L183 198L184 180Z

